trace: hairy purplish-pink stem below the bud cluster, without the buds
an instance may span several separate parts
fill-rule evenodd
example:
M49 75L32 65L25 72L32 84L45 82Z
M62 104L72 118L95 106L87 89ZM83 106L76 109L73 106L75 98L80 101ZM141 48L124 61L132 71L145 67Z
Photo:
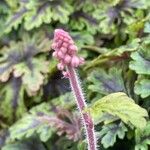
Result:
M88 142L88 150L96 150L96 137L94 133L94 124L92 118L88 113L83 113L84 108L86 107L85 98L80 86L79 78L76 74L76 71L73 67L67 66L69 73L69 80L72 87L72 91L76 98L76 103L81 113L83 125L86 133L86 140Z

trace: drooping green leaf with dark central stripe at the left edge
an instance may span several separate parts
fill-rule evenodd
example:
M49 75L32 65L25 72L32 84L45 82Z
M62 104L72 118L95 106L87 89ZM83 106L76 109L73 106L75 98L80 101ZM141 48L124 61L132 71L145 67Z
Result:
M22 81L20 78L12 78L8 83L1 86L0 94L2 95L2 100L0 101L0 114L7 118L8 122L12 122L26 112Z

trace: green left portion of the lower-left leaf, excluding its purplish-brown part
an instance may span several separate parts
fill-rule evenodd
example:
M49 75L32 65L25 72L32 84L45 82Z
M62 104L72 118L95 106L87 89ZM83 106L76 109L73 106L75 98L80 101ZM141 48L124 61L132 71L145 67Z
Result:
M10 127L10 140L21 140L37 134L41 141L47 141L55 130L48 123L40 120L40 114L53 114L50 108L50 105L42 103L30 110L30 114L24 115L22 119Z

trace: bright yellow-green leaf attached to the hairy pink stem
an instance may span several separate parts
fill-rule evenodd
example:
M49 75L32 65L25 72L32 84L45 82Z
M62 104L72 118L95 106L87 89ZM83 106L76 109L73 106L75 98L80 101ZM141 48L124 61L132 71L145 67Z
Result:
M126 124L131 124L136 128L146 126L147 111L122 92L109 94L93 103L87 111L91 113L95 123L99 123L99 118L106 112L117 116Z

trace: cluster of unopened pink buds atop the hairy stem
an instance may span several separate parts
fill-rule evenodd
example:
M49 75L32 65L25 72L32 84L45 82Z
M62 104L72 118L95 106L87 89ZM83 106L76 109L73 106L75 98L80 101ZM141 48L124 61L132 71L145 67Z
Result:
M55 30L52 49L55 50L53 56L59 60L57 68L61 71L65 66L78 67L84 63L84 59L77 56L78 48L73 39L62 29Z

